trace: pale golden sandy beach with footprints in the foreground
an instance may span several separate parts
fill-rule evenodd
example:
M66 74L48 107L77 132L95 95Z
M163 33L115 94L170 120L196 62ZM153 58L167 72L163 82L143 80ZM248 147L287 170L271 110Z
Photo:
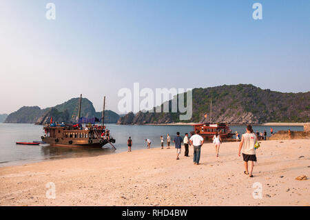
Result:
M199 166L192 148L180 160L174 148L152 148L3 167L0 206L309 206L309 139L261 141L254 178L243 173L238 144L223 143L216 158L205 143ZM45 196L49 182L56 199ZM262 199L252 195L256 182Z

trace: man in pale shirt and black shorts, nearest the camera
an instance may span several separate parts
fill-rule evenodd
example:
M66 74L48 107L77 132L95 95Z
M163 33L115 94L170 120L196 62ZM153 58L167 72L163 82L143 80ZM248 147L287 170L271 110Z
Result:
M243 161L245 161L245 174L249 174L249 177L253 177L254 161L256 161L256 140L256 135L253 133L252 126L247 126L247 132L242 134L238 156L240 157L240 152L242 150Z

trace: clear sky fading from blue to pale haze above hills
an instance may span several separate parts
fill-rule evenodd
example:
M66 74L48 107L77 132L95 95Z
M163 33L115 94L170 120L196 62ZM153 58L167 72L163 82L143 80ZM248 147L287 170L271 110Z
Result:
M118 90L310 90L310 1L0 0L0 114ZM254 20L254 3L262 19ZM56 19L45 17L47 3Z

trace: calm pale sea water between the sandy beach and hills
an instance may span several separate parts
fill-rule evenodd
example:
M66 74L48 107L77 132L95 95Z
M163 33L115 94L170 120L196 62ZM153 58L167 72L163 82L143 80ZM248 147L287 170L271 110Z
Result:
M48 159L63 159L68 157L92 157L102 154L112 154L127 150L127 139L132 137L132 150L146 148L145 139L152 141L152 148L159 147L161 144L160 137L163 135L166 140L167 133L172 139L176 132L183 136L186 132L193 130L192 126L118 126L108 124L112 137L116 139L115 147L111 148L61 148L48 144L40 146L21 146L16 145L17 141L40 141L43 133L43 126L33 124L17 123L0 123L0 166L12 166L23 163L43 161ZM245 126L231 126L233 132L238 131L240 134L245 132ZM303 130L302 126L274 126L273 132L278 130ZM254 131L263 132L267 130L270 135L270 126L254 126Z

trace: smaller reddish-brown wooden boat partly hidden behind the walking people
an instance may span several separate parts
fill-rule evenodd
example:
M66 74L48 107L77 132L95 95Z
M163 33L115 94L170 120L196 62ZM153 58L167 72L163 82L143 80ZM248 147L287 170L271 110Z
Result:
M194 130L191 134L195 134L196 130L199 131L199 135L205 139L212 139L216 132L220 134L222 139L231 139L234 134L231 133L231 130L227 123L198 123L193 125Z

